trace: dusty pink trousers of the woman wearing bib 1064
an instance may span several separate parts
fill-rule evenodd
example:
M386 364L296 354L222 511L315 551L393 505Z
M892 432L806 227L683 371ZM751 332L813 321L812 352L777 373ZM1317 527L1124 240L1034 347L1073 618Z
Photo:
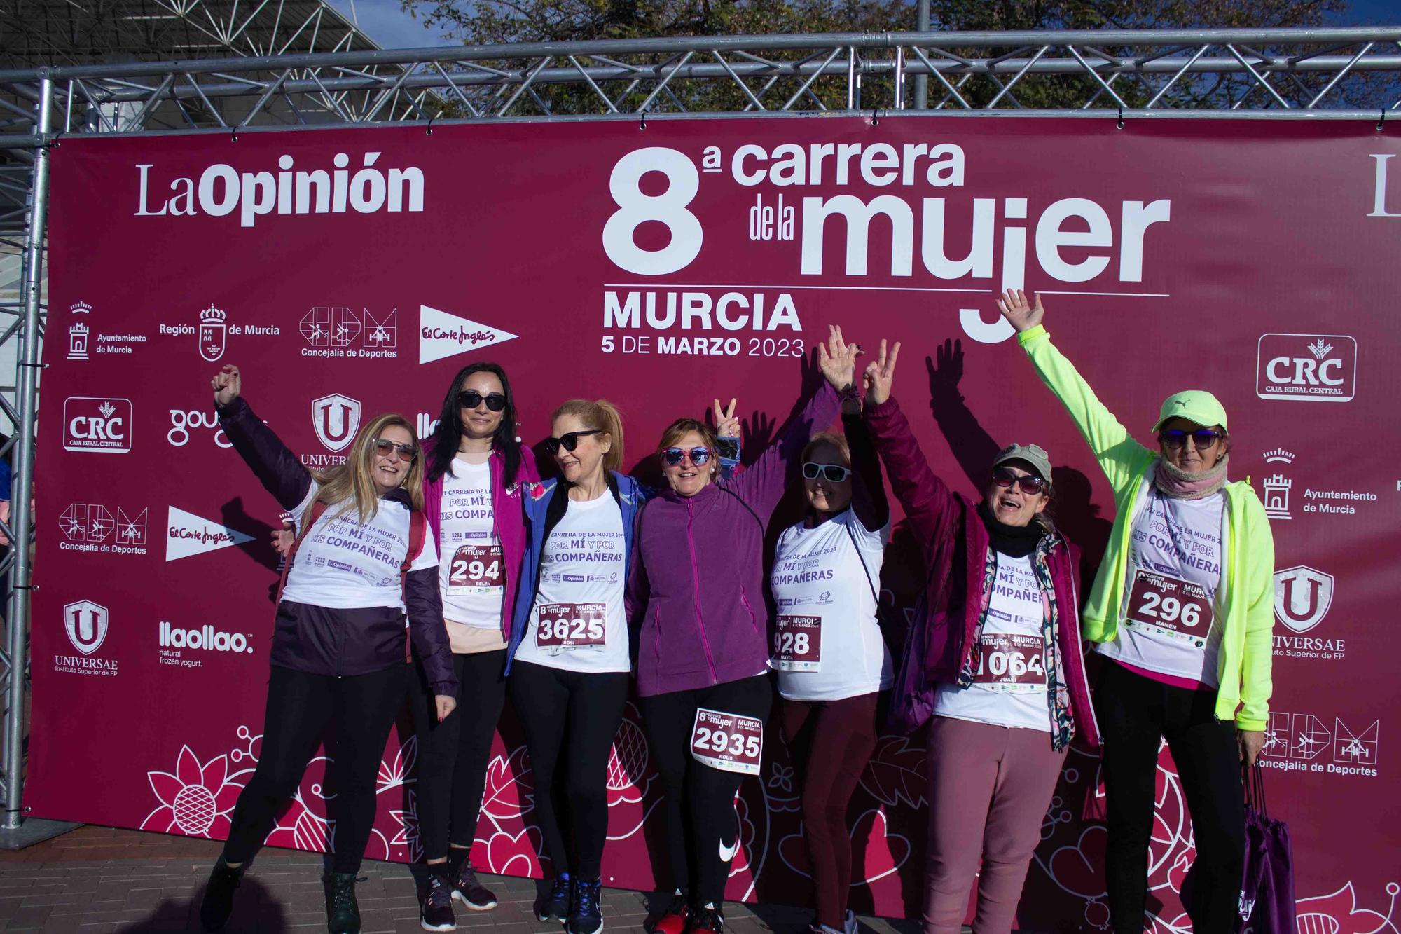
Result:
M930 721L925 934L958 933L975 875L978 914L972 930L1012 930L1063 760L1063 749L1051 749L1048 729L950 717Z

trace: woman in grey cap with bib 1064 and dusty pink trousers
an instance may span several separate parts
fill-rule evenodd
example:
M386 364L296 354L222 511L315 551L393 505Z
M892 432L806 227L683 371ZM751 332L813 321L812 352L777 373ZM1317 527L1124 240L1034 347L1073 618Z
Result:
M1035 445L1002 449L976 503L934 475L890 395L898 353L881 341L864 414L927 575L892 698L906 729L932 718L925 934L961 928L975 878L974 930L1005 934L1066 746L1098 745L1080 555L1047 515L1051 463Z

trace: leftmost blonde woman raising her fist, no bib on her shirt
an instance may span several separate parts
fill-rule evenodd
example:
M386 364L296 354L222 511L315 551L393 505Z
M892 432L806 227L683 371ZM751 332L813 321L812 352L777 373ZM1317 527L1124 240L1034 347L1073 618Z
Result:
M238 367L224 366L210 384L220 428L293 513L300 534L277 603L258 769L238 795L200 921L217 931L228 920L248 860L331 726L336 851L326 914L332 934L353 934L360 930L354 882L374 829L375 776L403 701L405 613L439 718L457 704L437 547L422 516L415 517L423 510L417 439L402 417L380 415L354 436L345 464L311 473L244 401Z

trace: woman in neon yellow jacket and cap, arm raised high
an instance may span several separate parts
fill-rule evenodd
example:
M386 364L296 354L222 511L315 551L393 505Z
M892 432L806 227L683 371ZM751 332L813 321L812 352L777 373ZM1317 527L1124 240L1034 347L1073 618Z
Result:
M1248 482L1227 482L1226 410L1210 393L1168 395L1133 440L1051 344L1020 290L999 302L1114 491L1117 515L1083 631L1110 662L1096 687L1108 811L1114 930L1143 930L1160 738L1187 792L1196 843L1187 913L1198 931L1236 924L1245 848L1241 763L1269 717L1275 546Z

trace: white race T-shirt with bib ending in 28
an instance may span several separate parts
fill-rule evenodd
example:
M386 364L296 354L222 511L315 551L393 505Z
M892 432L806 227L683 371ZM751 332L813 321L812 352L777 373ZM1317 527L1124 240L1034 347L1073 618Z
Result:
M869 532L850 509L779 536L769 574L778 606L769 668L779 672L779 694L841 700L891 686L890 651L871 593L871 582L880 586L888 537L890 523Z

